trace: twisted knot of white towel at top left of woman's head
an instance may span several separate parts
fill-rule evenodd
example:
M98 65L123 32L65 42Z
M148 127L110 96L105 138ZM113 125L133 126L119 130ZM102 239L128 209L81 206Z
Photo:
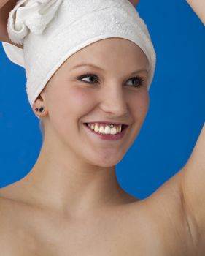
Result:
M7 31L12 42L22 45L30 32L42 34L63 0L19 0L9 12Z

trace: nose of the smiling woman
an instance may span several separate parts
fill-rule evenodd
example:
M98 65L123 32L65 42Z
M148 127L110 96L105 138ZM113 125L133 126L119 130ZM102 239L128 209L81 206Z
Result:
M128 102L125 91L119 84L104 86L101 91L101 110L111 116L125 116L128 113Z

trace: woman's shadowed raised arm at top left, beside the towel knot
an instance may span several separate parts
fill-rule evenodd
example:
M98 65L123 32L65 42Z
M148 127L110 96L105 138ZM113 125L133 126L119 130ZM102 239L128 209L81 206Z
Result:
M9 42L12 45L23 49L23 45L18 45L9 39L7 34L7 20L9 12L15 7L18 0L0 0L0 41Z

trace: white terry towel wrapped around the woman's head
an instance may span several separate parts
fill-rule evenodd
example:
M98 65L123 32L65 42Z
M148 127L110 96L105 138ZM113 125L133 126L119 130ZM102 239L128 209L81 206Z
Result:
M55 71L78 50L109 37L139 45L149 61L148 90L156 55L144 20L128 0L20 0L9 13L3 42L8 58L26 69L31 106Z

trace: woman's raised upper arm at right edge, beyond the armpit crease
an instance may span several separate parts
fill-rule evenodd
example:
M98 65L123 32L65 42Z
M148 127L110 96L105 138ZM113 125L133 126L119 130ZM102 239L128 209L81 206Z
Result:
M200 245L200 250L205 251L205 123L198 136L193 152L182 172L182 192L184 208L191 216L190 229ZM202 253L201 252L201 253ZM201 255L204 255L201 254Z

